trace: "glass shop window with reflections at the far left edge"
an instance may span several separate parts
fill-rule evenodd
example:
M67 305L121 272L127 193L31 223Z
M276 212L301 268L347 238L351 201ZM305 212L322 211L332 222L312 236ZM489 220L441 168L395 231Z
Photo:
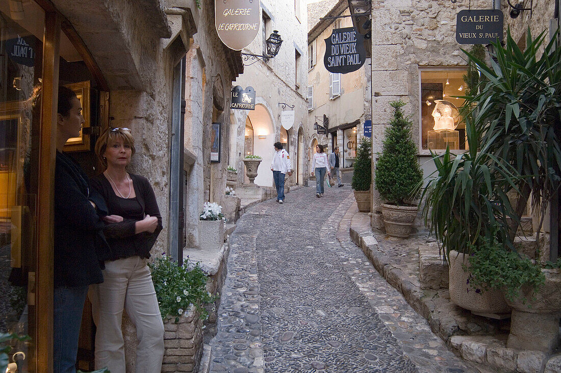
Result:
M36 206L45 13L35 2L0 1L0 333L34 371Z

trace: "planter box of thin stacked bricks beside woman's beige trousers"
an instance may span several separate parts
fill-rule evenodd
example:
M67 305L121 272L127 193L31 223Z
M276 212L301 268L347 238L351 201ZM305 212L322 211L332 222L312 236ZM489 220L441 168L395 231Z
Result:
M196 372L203 354L203 320L194 306L177 323L164 321L162 372Z

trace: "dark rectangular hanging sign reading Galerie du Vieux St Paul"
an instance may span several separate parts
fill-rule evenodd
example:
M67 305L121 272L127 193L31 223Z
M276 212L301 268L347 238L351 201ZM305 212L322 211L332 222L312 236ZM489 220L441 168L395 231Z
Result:
M456 41L459 44L490 44L503 41L503 12L498 9L459 11Z

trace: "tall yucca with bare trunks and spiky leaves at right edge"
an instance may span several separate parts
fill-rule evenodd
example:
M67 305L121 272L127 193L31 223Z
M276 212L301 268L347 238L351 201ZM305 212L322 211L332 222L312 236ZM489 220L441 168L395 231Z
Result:
M554 193L558 192L561 168L561 48L556 48L559 31L546 43L545 31L532 39L527 31L526 49L521 50L507 32L504 47L495 52L487 66L470 52L485 79L479 93L466 96L472 108L473 126L481 133L486 152L514 168L518 195L509 223L509 240L516 234L520 217L532 196L541 221ZM540 50L544 50L538 57ZM494 176L491 176L491 179ZM540 222L541 225L541 222ZM539 232L540 229L537 229Z

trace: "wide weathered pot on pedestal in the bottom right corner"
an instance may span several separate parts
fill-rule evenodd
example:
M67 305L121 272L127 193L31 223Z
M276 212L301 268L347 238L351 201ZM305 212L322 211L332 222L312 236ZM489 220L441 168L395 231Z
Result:
M551 353L559 346L561 270L542 269L545 284L537 292L522 287L520 296L507 300L513 308L507 347ZM522 299L526 298L526 304Z

